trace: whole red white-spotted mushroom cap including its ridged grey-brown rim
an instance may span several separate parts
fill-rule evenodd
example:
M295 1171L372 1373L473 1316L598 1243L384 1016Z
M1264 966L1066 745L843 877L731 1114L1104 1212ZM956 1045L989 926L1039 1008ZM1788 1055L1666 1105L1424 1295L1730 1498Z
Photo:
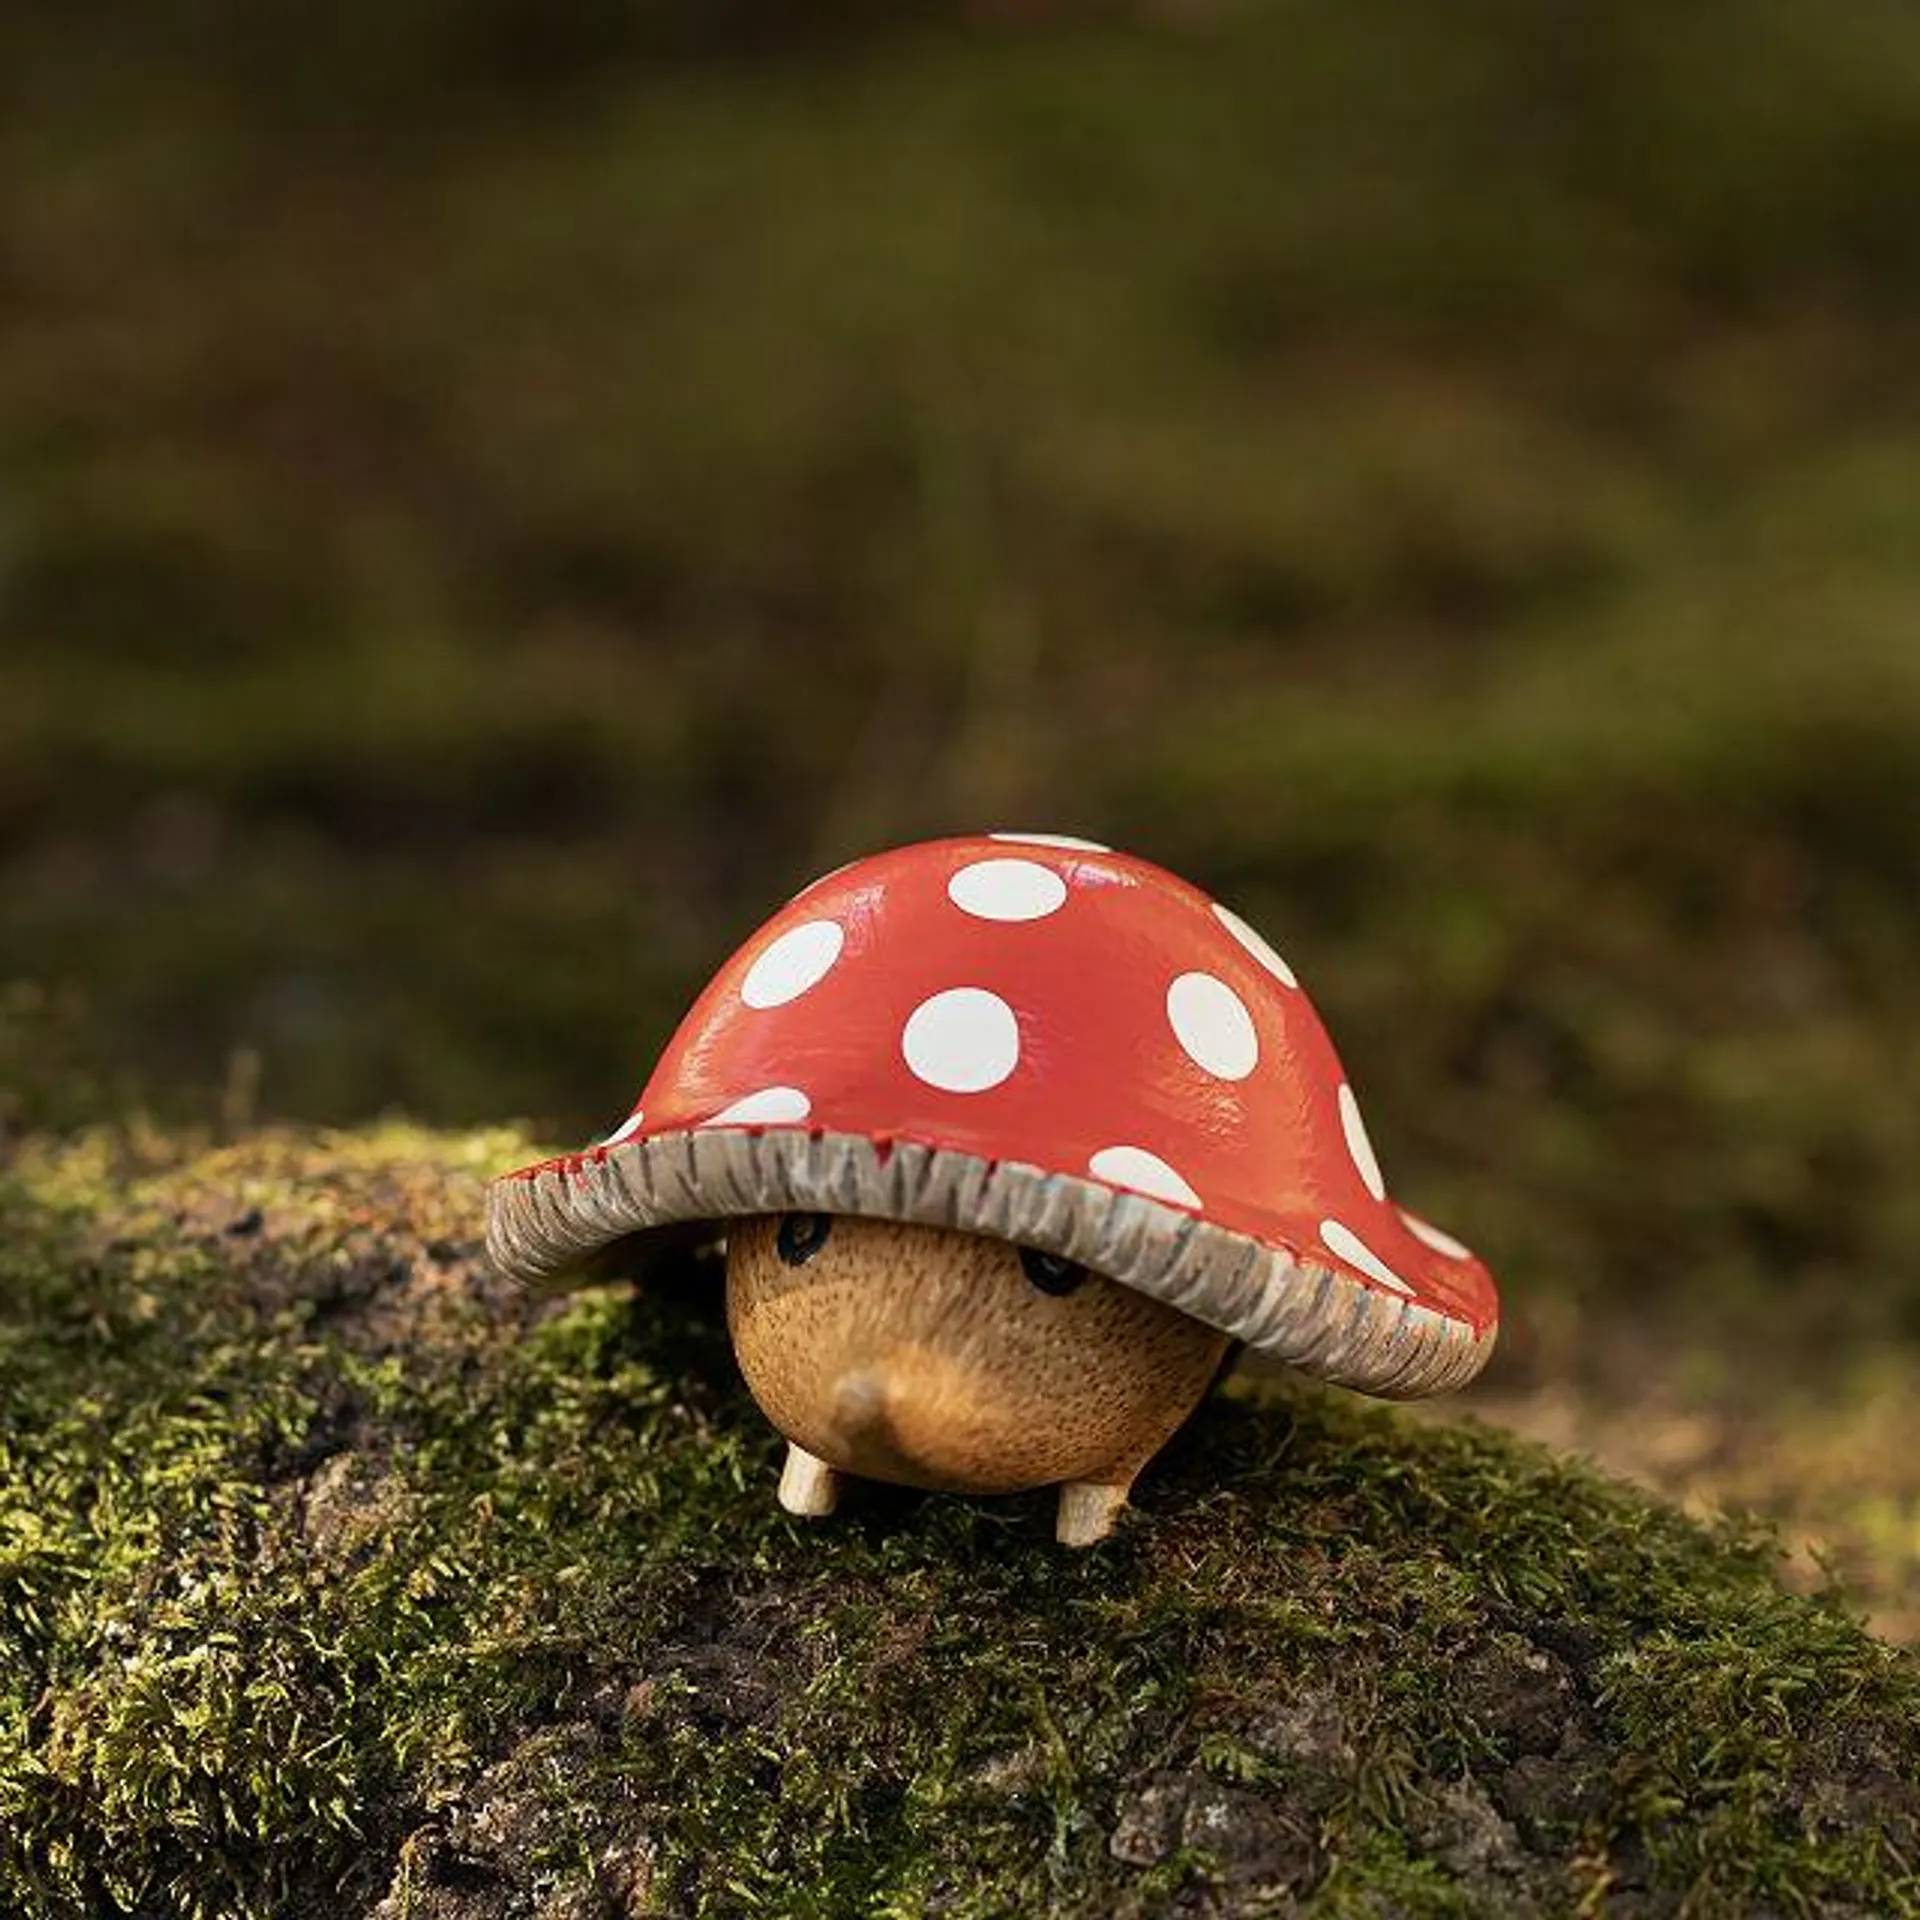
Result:
M720 968L618 1133L495 1183L490 1238L538 1277L789 1208L1039 1246L1373 1392L1455 1386L1496 1332L1486 1267L1388 1200L1286 962L1091 841L929 841L814 881Z

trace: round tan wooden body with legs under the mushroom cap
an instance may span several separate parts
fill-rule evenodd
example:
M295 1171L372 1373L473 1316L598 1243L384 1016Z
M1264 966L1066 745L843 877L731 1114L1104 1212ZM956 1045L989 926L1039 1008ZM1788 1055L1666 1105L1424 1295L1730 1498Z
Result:
M762 1215L728 1236L728 1327L791 1442L783 1505L837 1476L960 1494L1060 1486L1058 1534L1100 1538L1229 1340L1071 1261L897 1221Z

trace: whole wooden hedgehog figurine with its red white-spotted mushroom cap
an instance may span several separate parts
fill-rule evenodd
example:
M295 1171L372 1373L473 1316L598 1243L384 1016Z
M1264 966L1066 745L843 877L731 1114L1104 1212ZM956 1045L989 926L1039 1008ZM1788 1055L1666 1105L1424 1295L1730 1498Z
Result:
M1461 1386L1498 1300L1386 1198L1286 962L1183 879L987 833L854 860L714 975L599 1146L493 1183L538 1281L634 1233L726 1240L780 1500L843 1475L1060 1488L1100 1540L1235 1340L1415 1398Z

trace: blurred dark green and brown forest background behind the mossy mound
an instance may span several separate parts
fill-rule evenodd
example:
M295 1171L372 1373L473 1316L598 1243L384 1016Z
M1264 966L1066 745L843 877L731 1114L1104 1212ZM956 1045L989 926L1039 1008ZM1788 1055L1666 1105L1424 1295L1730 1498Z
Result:
M572 1142L810 874L1091 833L1492 1411L1899 1619L1916 204L1905 0L8 8L0 1127Z

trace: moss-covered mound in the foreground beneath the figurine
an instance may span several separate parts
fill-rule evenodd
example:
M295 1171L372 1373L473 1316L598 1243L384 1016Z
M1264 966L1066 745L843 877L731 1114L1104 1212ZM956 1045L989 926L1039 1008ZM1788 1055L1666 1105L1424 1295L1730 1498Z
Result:
M0 1908L1920 1907L1920 1678L1764 1536L1309 1390L1092 1553L803 1526L710 1273L484 1273L518 1150L13 1158Z

